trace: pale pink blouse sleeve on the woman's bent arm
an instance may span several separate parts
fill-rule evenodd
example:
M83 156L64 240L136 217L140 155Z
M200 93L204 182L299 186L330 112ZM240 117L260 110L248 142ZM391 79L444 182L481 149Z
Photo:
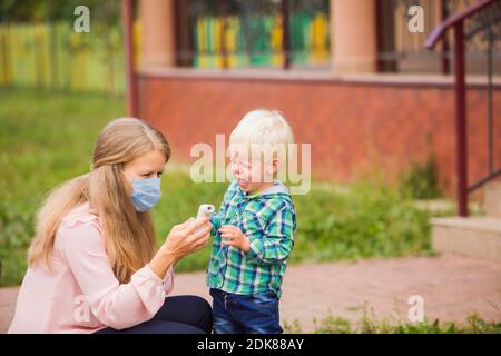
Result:
M99 322L122 329L149 320L163 306L163 280L148 265L134 273L129 283L120 284L92 222L59 231L61 256Z

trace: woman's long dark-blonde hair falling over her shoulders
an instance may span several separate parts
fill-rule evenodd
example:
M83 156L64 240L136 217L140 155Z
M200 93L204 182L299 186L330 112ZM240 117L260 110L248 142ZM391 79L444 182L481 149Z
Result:
M50 256L61 219L86 201L99 217L106 249L120 283L147 264L155 254L155 231L148 212L137 212L127 194L124 166L154 149L166 162L170 148L156 128L135 118L109 122L97 140L91 171L52 190L38 212L36 235L28 251L30 266L42 261L50 269Z

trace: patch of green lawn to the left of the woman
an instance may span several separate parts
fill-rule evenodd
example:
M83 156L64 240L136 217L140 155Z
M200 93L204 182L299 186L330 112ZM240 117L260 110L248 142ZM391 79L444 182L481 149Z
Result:
M19 284L33 216L49 189L89 170L104 125L122 100L85 95L0 91L0 284Z

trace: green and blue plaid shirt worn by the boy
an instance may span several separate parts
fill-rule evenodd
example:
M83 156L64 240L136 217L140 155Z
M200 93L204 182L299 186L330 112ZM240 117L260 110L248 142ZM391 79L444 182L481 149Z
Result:
M273 290L281 297L296 229L296 214L287 189L275 182L263 194L247 195L233 181L210 222L214 244L207 286L240 295ZM249 238L248 254L222 244L218 229L223 225L234 225Z

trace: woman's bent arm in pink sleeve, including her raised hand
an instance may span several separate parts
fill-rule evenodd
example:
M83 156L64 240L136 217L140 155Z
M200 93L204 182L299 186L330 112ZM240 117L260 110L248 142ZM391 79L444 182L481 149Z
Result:
M207 241L210 225L193 234L203 224L207 221L174 227L153 260L137 270L127 284L120 284L116 278L101 233L95 224L62 227L60 250L91 313L102 324L122 329L149 320L164 305L163 278L181 257Z

